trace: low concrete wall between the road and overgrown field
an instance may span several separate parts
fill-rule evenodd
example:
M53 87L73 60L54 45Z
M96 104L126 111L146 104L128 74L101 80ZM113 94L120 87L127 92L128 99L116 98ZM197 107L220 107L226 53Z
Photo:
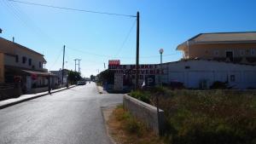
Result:
M164 111L160 110L160 122L158 123L157 109L143 101L125 95L124 107L131 114L147 124L148 128L154 130L156 134L163 134L165 128Z

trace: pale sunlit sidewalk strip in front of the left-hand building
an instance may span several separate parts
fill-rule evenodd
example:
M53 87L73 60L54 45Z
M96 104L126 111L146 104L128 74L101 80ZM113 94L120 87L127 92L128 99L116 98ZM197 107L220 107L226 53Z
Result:
M75 85L69 86L68 89L71 89L73 87L75 87ZM67 88L65 87L65 88L61 88L61 89L51 90L51 94L62 91L62 90L65 90L65 89L67 89ZM0 101L0 109L3 109L5 107L10 107L10 106L13 106L15 104L18 104L18 103L21 103L21 102L24 102L24 101L30 101L32 99L36 99L36 98L44 96L44 95L49 95L48 91L45 91L45 92L42 92L42 93L37 93L37 94L20 95L20 97L18 97L18 98L13 98L13 99Z

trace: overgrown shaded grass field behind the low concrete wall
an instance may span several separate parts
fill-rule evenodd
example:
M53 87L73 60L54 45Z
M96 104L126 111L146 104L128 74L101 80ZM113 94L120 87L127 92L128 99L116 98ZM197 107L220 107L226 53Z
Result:
M131 96L160 109L172 144L256 144L256 92L239 90L133 91Z

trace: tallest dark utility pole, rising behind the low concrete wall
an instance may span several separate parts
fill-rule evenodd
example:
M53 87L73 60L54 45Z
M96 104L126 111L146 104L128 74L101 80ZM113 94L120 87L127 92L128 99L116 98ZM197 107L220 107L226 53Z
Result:
M136 79L135 88L138 89L138 73L139 73L139 55L140 55L140 13L137 12L137 49L136 49Z

